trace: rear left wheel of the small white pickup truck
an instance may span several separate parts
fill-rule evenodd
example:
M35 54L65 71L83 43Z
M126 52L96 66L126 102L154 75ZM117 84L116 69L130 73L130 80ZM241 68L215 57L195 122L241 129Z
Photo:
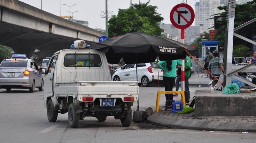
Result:
M77 128L79 124L80 114L76 114L74 104L71 103L68 107L68 123L71 128Z

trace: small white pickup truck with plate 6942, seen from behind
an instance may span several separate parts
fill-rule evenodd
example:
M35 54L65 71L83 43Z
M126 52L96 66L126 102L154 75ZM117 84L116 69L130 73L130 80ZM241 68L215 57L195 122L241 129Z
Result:
M58 113L68 112L71 128L77 128L84 117L107 116L120 119L124 127L132 121L131 106L138 100L137 81L111 81L104 53L84 48L85 42L74 42L76 49L60 50L52 55L44 77L44 104L47 117L55 122Z

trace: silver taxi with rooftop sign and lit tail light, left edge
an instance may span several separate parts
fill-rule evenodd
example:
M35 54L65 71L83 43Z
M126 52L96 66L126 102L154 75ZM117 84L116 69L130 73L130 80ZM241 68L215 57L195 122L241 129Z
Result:
M27 59L24 54L13 54L11 59L4 59L0 64L0 88L28 88L30 92L44 89L44 81L37 64Z

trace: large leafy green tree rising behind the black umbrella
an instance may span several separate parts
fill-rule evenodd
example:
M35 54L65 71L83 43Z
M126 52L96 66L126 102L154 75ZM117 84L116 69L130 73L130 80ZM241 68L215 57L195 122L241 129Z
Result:
M156 6L148 6L149 2L134 4L132 9L119 9L118 14L108 21L108 36L120 36L130 31L160 36L163 30L157 23L163 18L156 12Z

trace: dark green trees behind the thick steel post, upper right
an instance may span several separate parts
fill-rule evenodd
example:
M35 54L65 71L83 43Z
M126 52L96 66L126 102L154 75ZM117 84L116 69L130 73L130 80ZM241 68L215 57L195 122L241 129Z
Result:
M225 10L225 11L220 13L220 15L224 16L224 17L221 18L222 26L220 29L217 30L214 40L219 40L220 41L219 47L224 47L225 29L227 28L227 21L226 21L227 6L220 6L218 8L219 8L219 10ZM252 20L253 18L256 18L256 0L247 2L246 4L241 4L241 5L236 4L234 28ZM256 23L255 22L251 23L250 25L237 30L235 33L242 35L248 39L251 39L251 35L256 33ZM234 36L233 45L241 45L241 44L246 45L247 47L251 46L251 43L246 42L246 41Z

